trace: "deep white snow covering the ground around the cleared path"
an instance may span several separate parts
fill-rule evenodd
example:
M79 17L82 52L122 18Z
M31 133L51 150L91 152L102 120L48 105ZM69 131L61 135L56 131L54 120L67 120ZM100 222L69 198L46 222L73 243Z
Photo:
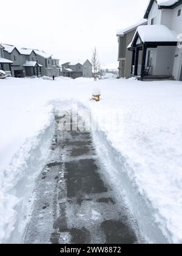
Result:
M101 102L90 101L95 87ZM52 140L54 102L59 101L79 102L98 122L95 143L112 151L111 167L118 170L111 168L110 178L118 190L124 188L121 193L147 241L161 241L149 232L157 230L155 222L166 241L182 243L182 83L113 78L0 80L0 243L21 242L33 185ZM120 125L111 127L116 114ZM127 186L120 180L123 174ZM139 201L144 208L136 207Z

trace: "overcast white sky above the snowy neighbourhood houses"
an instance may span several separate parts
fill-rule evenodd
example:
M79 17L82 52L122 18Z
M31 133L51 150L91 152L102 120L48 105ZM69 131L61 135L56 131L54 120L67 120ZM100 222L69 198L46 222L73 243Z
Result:
M0 42L41 49L61 62L91 59L117 68L116 29L144 15L148 0L9 0L1 5Z

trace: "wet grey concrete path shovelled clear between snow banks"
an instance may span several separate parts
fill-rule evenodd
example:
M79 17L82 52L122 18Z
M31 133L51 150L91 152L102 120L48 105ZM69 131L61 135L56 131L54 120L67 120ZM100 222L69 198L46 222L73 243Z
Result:
M49 160L36 182L24 243L138 243L89 132L55 130Z

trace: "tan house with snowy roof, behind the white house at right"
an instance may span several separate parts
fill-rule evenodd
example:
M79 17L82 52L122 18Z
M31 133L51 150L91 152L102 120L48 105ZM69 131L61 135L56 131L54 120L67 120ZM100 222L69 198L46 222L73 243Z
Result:
M147 20L140 20L133 26L127 27L126 29L118 30L118 62L119 62L119 77L130 78L131 66L132 66L132 52L128 51L127 46L129 46L135 35L138 26L146 25ZM141 63L141 57L139 62Z

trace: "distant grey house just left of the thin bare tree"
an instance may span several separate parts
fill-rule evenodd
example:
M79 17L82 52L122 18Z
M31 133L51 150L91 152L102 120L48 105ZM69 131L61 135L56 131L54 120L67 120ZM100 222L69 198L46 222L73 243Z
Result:
M71 63L66 62L62 64L62 76L76 79L78 77L92 77L92 64L89 60L86 62Z

